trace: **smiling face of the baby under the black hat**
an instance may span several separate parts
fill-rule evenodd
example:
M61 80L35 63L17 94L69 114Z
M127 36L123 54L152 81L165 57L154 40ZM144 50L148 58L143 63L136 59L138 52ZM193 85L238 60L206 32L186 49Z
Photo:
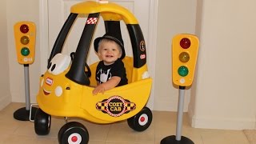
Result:
M121 58L122 52L116 42L101 42L98 46L98 57L105 65L113 64L118 58Z

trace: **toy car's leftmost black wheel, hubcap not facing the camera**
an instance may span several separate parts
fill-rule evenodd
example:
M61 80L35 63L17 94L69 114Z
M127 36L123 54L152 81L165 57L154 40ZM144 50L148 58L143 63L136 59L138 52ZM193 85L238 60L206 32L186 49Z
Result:
M34 131L38 135L46 135L50 132L50 115L38 109L34 115Z

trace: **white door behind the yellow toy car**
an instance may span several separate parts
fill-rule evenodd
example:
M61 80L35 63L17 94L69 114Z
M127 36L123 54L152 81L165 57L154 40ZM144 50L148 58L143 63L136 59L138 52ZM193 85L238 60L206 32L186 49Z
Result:
M54 42L61 30L66 18L70 14L70 6L75 3L84 2L84 0L41 0L40 1L40 51L41 51L41 72L46 70L47 58L49 58L50 51L54 46ZM155 62L155 45L156 38L154 37L156 31L156 6L157 1L155 0L110 0L121 6L126 7L131 13L138 19L139 25L141 26L142 33L146 41L147 48L147 65L149 68L150 76L154 79L154 62ZM62 53L70 54L74 52L78 46L78 41L84 28L86 18L77 18L74 23L68 38L66 39L65 46ZM121 23L122 38L126 48L126 55L132 56L132 48L130 44L130 37L126 30L125 24ZM94 33L94 38L98 38L105 34L104 22L102 18L98 22L97 29ZM93 38L93 40L94 40ZM92 41L93 41L92 40ZM93 43L93 42L91 42ZM93 46L93 44L91 44ZM97 62L98 57L94 53L94 48L90 48L90 54L87 62L91 64ZM148 105L153 108L154 97L153 97L154 86Z

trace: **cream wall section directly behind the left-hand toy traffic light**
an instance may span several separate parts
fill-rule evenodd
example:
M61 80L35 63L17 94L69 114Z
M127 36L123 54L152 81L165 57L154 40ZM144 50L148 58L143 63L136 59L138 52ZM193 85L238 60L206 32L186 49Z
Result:
M6 1L6 16L8 30L8 52L10 66L10 91L12 102L25 102L25 86L24 86L24 66L18 64L15 43L14 43L14 24L19 21L31 21L36 24L38 29L38 1L34 0L8 0ZM37 30L38 32L38 30ZM40 54L38 54L38 36L35 46L35 61L30 65L30 99L35 101L38 93L40 78Z

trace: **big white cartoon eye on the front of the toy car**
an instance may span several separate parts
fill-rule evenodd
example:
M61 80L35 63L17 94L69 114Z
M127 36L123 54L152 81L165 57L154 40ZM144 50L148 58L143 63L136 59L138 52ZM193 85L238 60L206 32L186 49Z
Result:
M50 61L48 66L48 72L50 74L61 74L64 70L70 66L71 58L67 54L56 54Z

